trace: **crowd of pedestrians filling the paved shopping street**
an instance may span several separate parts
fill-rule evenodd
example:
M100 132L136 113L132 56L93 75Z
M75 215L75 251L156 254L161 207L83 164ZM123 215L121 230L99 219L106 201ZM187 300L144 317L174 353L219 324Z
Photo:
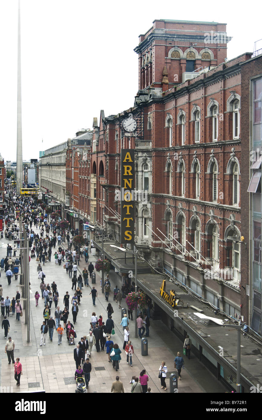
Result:
M57 333L57 343L58 346L62 344L62 337L65 334L66 339L69 345L75 346L75 339L77 338L77 333L75 330L75 324L77 323L77 315L79 312L79 305L81 304L82 293L85 287L89 286L89 277L92 278L92 273L94 271L94 266L92 262L89 262L89 254L88 254L88 243L85 243L81 247L78 247L77 243L74 243L74 235L78 234L78 230L74 230L73 228L70 231L70 226L64 231L61 229L61 218L58 217L58 220L52 219L50 223L48 223L48 215L44 214L41 207L38 207L35 201L30 198L24 197L16 197L15 207L16 207L16 220L11 221L8 220L8 216L6 215L5 218L5 237L12 240L16 236L16 245L17 248L12 247L11 244L8 243L7 248L7 256L2 258L0 261L1 270L5 270L6 277L8 279L8 285L11 284L11 278L15 276L17 280L19 275L19 265L21 265L21 257L19 255L16 256L16 252L19 253L20 244L23 241L23 237L21 233L19 233L19 226L17 222L19 218L22 218L22 223L25 224L26 227L26 234L29 239L29 250L31 251L31 255L29 259L36 258L37 264L37 275L40 279L41 283L39 286L39 291L35 291L35 306L39 306L39 299L44 299L44 308L43 308L43 321L42 325L40 326L40 346L46 345L46 338L47 334L49 334L49 339L53 341L53 333L56 331ZM32 228L34 224L34 230ZM38 230L39 229L39 230ZM39 232L39 233L38 233ZM71 236L70 236L71 233ZM3 234L3 232L2 232ZM57 236L56 236L57 235ZM65 245L63 245L65 244ZM67 244L67 247L66 247ZM58 246L58 249L55 250L53 253L53 249ZM13 257L12 257L13 252ZM74 294L70 297L69 291L66 291L65 294L62 293L59 295L59 285L56 284L55 281L47 283L46 275L43 270L43 266L47 262L51 262L53 254L53 260L55 264L62 265L65 269L65 274L69 276L71 279L71 290L73 290ZM82 270L82 274L79 271L79 262L81 258L85 258L86 266ZM102 289L102 282L100 282L100 286ZM122 299L128 294L130 291L134 291L134 283L131 283L131 279L122 275L122 288L119 289L118 286L115 286L113 290L113 302L116 303L118 308L121 308ZM90 363L90 358L92 356L92 348L95 346L97 352L106 351L106 355L108 358L108 362L112 363L112 367L116 370L119 370L119 362L122 360L121 358L121 349L119 348L119 344L114 343L111 336L114 336L114 308L113 302L109 302L109 295L111 293L111 283L109 274L107 274L104 284L104 294L105 300L108 302L106 311L107 311L107 319L106 321L103 320L102 315L96 315L95 312L92 313L91 320L90 320L90 328L89 334L81 334L82 337L78 341L76 348L74 348L74 360L76 362L76 372L75 378L85 378L85 384L88 387L88 383L90 381L90 372L92 370L92 365ZM20 316L22 315L22 308L20 304L20 294L17 291L16 297L13 297L12 300L9 299L7 296L6 299L3 298L3 287L0 285L0 304L1 304L1 314L4 316L4 320L2 323L2 329L5 331L5 338L7 338L8 331L9 331L9 321L7 316L9 317L9 309L12 308L12 314L16 312L16 319L19 321ZM63 307L60 308L59 300L63 298ZM93 306L95 307L95 299L98 297L98 291L95 289L95 286L92 286L90 295L92 295ZM51 308L52 304L54 304L54 314L51 315ZM69 319L69 305L71 304L71 320ZM136 319L137 327L138 327L138 335L140 339L142 339L145 331L146 337L149 337L149 327L150 327L150 307L151 307L151 300L148 299L147 302L147 310L142 314L138 315ZM144 320L145 318L145 320ZM126 354L126 363L133 366L133 355L134 355L134 348L132 342L130 341L130 331L129 331L129 323L133 320L133 313L132 310L128 309L128 314L123 314L120 326L123 328L123 346L122 349ZM6 344L6 348L10 348L10 350L6 350L8 354L8 361L11 363L11 358L13 363L13 352L11 350L11 344L14 348L13 340L9 337L8 342ZM188 357L190 357L190 341L185 340L185 345L187 352L189 352ZM21 370L21 363L17 360L17 365L15 365L15 375L17 385L20 384L20 375L22 373ZM81 367L82 365L82 367ZM181 354L178 353L175 359L175 366L177 367L177 372L179 375L179 379L181 378L181 369L183 368L184 360L181 357ZM160 368L159 368L159 378L161 380L161 388L165 391L167 390L167 386L165 384L165 377L167 374L167 366L163 361ZM118 379L117 379L118 378ZM132 386L131 392L150 392L150 388L148 388L149 377L146 375L146 371L143 370L139 377L132 376L130 384ZM119 381L119 377L116 376L116 381L112 384L111 392L123 392L123 387L120 386L121 381Z

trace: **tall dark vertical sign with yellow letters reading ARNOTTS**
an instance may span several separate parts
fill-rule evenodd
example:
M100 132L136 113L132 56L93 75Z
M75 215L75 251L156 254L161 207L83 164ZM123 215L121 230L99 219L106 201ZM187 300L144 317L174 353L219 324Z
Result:
M121 150L121 243L135 242L135 150Z

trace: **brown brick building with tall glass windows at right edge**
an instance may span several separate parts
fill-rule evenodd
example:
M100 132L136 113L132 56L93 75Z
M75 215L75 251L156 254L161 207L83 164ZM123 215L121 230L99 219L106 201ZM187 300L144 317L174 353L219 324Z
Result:
M261 53L261 51L260 51ZM260 337L261 328L261 153L262 55L241 65L242 162L241 304L244 320Z

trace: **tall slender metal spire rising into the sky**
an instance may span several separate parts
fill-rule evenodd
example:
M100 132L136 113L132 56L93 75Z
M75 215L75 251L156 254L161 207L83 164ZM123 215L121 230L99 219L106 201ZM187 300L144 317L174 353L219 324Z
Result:
M23 186L20 0L18 0L16 194Z

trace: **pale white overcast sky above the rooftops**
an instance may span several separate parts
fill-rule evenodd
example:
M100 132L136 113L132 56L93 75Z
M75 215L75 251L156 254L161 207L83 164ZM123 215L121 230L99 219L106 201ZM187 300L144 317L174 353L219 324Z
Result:
M23 159L130 108L139 34L154 19L227 23L228 59L262 38L261 3L21 0ZM262 42L257 49L262 47ZM17 0L0 0L0 153L16 160ZM43 142L42 142L43 139Z

